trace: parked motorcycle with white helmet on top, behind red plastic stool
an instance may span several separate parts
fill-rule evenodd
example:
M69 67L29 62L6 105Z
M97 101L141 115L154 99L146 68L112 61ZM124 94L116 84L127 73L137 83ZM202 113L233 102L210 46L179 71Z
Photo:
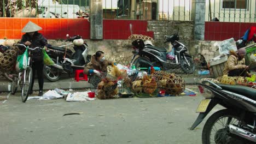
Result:
M79 35L74 35L67 40L72 42L68 45L74 45L75 52L66 49L67 45L50 46L47 50L48 55L55 62L54 65L44 66L44 75L50 81L57 81L61 74L72 74L76 69L84 69L90 62L91 55L88 55L89 47Z

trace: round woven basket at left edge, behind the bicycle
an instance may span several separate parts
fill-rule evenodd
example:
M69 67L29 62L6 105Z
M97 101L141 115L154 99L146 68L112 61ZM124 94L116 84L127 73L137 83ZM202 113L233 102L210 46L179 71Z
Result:
M1 71L13 71L15 70L14 66L16 64L16 59L18 56L18 52L20 50L18 47L11 47L6 50L3 55L0 57L0 70Z

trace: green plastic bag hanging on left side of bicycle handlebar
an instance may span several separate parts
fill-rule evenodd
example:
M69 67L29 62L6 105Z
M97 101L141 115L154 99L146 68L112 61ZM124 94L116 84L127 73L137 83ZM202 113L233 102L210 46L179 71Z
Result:
M26 69L27 63L28 63L28 50L26 49L22 55L17 57L16 71L20 72Z

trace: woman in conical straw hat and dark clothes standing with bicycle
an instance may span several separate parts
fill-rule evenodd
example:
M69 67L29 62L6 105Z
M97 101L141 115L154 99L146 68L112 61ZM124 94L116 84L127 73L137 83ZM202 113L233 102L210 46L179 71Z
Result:
M45 47L48 45L47 40L44 38L44 36L38 31L40 31L42 28L36 25L33 22L28 22L27 25L22 29L21 32L25 33L22 35L21 44L24 44L26 46L30 47ZM36 49L31 51L31 58L32 58L32 70L33 70L33 76L32 76L32 88L30 94L33 93L33 85L34 85L34 74L37 71L37 77L38 77L38 84L39 84L39 94L43 95L43 86L44 86L44 79L43 79L43 69L44 69L44 63L43 63L43 52L41 49Z

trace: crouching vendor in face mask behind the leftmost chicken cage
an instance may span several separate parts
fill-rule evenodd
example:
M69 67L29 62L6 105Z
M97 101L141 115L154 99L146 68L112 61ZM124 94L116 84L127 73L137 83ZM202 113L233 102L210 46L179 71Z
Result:
M114 65L112 61L105 59L105 53L103 51L97 51L91 56L91 62L88 63L84 69L84 74L87 75L100 75L101 72L107 73L107 66Z

